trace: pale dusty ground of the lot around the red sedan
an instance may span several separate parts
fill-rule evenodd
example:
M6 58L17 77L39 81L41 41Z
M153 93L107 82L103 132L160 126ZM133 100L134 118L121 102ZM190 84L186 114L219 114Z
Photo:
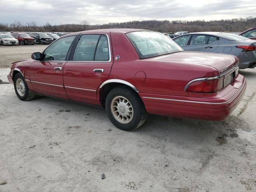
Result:
M44 47L0 46L1 66ZM0 84L0 192L256 191L256 70L240 73L246 94L225 121L149 115L134 132L102 108L22 102Z

